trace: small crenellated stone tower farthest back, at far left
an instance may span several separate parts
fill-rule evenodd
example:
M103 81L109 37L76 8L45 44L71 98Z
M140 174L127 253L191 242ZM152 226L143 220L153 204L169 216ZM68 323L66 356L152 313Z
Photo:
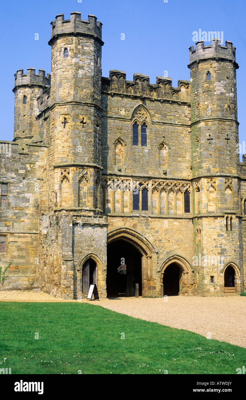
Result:
M25 144L33 138L37 132L37 116L39 110L37 97L51 84L51 76L39 69L28 68L27 74L18 70L14 75L14 141Z

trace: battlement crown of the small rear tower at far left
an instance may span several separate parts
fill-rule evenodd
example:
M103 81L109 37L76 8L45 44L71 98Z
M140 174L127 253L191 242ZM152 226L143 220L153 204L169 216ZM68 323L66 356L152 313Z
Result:
M35 68L28 68L27 74L23 73L23 70L18 70L14 74L14 88L23 85L36 85L36 86L50 86L51 75L47 73L45 76L45 70L39 69L39 73L36 74Z

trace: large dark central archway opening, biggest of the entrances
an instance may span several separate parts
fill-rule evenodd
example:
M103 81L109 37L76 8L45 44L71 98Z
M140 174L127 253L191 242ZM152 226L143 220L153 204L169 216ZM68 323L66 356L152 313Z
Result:
M107 296L135 296L136 283L142 296L142 254L127 240L114 240L107 246Z

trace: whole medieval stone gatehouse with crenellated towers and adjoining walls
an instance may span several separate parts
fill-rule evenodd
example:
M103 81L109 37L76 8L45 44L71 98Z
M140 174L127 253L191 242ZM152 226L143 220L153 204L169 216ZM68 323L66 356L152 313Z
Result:
M190 81L101 76L102 24L51 22L51 75L14 80L1 141L2 289L79 298L236 293L246 285L246 158L235 47L189 48ZM119 268L121 267L121 268Z

